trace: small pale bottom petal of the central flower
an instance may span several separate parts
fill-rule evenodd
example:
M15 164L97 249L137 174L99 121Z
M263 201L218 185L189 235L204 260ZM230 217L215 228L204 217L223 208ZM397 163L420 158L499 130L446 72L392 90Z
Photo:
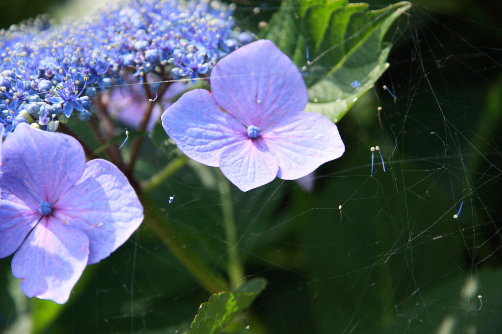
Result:
M260 139L247 139L231 145L221 154L219 166L227 179L242 191L273 181L279 168Z

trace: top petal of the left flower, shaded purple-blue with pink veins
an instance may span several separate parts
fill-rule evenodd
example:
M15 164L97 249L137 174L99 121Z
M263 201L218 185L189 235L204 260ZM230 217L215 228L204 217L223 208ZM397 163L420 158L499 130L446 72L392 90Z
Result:
M37 210L40 202L54 203L70 189L85 168L84 150L75 138L24 123L7 137L3 150L3 176L8 182L18 179Z

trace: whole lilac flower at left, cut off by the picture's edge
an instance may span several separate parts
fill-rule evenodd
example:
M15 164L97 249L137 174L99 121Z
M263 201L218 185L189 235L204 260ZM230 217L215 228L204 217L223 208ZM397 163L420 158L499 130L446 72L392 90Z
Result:
M85 162L73 137L19 124L3 145L0 258L29 297L68 300L85 266L110 255L143 221L143 207L111 163Z

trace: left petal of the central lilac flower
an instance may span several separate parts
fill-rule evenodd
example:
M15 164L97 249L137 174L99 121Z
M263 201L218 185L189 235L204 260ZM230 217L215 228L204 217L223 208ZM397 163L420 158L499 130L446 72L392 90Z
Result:
M216 104L211 93L195 89L185 93L162 114L169 137L188 157L217 167L221 152L247 138L247 129Z

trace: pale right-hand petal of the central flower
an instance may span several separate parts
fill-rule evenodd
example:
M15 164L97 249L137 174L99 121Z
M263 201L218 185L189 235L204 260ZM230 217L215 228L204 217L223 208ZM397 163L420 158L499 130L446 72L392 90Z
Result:
M279 163L277 176L284 180L305 176L345 151L336 125L316 113L288 115L261 135Z

